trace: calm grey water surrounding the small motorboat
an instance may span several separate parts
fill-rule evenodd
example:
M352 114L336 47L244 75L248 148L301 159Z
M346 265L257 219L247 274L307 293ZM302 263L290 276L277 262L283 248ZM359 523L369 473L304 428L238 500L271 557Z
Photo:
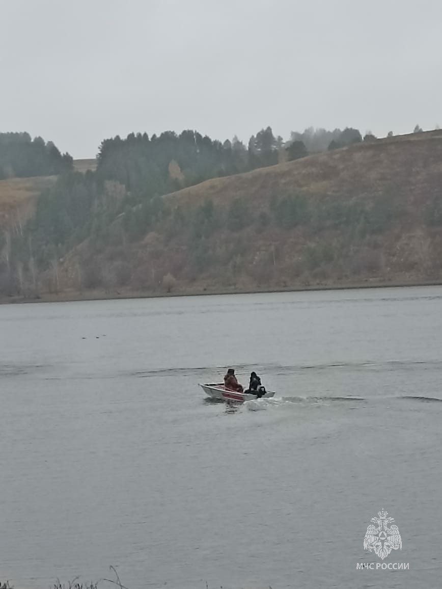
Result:
M0 306L0 578L440 587L442 288ZM198 382L234 365L274 400ZM371 517L408 571L356 571Z

